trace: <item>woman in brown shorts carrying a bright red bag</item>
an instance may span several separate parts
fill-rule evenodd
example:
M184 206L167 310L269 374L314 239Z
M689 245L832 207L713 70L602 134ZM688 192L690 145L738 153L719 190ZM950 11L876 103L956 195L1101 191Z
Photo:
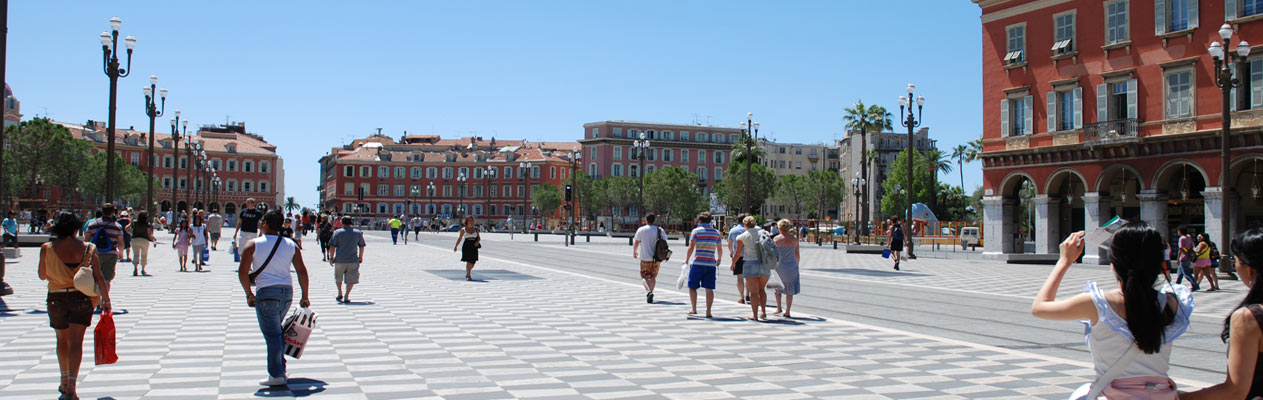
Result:
M83 222L69 212L57 216L53 226L56 240L39 247L38 275L48 281L48 324L57 332L57 365L62 379L57 391L62 399L78 399L76 381L83 361L83 332L92 324L92 308L111 312L110 280L101 271L100 254L91 242L76 235ZM75 289L75 274L83 266L92 269L100 297L88 297Z

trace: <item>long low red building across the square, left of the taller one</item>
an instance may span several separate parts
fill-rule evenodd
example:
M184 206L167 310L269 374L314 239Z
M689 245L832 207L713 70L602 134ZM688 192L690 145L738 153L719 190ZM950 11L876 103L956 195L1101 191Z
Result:
M514 217L520 227L528 217L567 216L563 206L537 209L530 196L546 184L562 191L572 168L581 168L571 163L577 151L573 141L436 135L404 135L397 141L378 134L322 156L317 191L322 209L371 221L472 216L479 223L503 226Z

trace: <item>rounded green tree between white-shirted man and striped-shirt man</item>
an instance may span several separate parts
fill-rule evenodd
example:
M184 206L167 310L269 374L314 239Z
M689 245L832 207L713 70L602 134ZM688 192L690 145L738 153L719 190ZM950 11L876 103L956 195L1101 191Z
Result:
M647 209L679 221L692 221L710 206L697 187L697 174L681 167L667 167L645 175L644 199Z

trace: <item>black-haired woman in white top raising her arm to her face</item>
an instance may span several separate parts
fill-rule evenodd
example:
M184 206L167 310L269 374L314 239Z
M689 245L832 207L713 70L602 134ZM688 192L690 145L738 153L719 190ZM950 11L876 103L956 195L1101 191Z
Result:
M1113 379L1090 387L1108 399L1176 399L1175 382L1167 377L1171 343L1188 328L1192 294L1182 285L1154 289L1162 273L1162 247L1158 230L1128 222L1114 233L1109 249L1119 289L1103 290L1089 281L1084 293L1057 300L1062 278L1084 254L1084 232L1071 233L1061 242L1061 257L1031 304L1031 314L1039 319L1090 323L1087 348L1096 379Z

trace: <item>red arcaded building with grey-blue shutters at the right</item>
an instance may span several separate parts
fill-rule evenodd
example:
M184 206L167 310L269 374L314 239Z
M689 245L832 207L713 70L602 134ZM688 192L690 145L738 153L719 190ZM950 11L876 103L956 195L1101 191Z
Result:
M1065 235L1114 216L1139 217L1168 240L1187 226L1216 242L1225 215L1234 232L1263 221L1263 54L1234 67L1242 87L1224 172L1207 52L1225 20L1229 49L1263 43L1263 1L971 1L983 10L986 252L1034 241L1036 252L1055 254Z

